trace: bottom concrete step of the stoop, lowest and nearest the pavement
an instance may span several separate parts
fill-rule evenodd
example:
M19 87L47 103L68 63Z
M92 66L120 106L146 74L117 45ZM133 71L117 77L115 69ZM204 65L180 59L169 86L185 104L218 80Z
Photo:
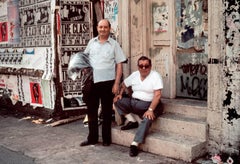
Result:
M112 128L112 142L130 146L135 133L136 129L122 131L119 126L114 126ZM153 154L191 162L205 154L205 146L206 141L199 141L195 138L165 131L151 131L146 138L145 144L142 144L140 149Z

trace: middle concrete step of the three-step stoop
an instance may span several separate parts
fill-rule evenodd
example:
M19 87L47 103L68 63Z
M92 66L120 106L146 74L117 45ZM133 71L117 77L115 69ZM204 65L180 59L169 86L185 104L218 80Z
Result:
M182 114L164 113L152 124L154 131L166 131L196 138L207 139L207 123L203 118L191 118Z

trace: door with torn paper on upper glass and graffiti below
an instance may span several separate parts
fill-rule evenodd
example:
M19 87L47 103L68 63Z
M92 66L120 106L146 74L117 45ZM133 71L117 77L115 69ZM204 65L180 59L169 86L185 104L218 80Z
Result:
M176 0L176 96L207 100L208 1Z

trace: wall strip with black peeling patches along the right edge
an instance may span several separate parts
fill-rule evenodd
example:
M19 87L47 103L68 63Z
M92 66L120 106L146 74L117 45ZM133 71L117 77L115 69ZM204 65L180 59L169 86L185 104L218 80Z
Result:
M240 1L224 1L225 55L222 150L240 149ZM239 152L238 152L239 153Z

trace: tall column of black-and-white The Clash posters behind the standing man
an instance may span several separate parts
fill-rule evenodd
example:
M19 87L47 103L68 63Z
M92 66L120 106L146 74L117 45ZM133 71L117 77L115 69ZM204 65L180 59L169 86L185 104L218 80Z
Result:
M75 81L67 75L70 58L84 51L92 38L91 2L88 0L60 0L61 20L61 70L63 87L63 110L86 108L82 99L82 78Z

